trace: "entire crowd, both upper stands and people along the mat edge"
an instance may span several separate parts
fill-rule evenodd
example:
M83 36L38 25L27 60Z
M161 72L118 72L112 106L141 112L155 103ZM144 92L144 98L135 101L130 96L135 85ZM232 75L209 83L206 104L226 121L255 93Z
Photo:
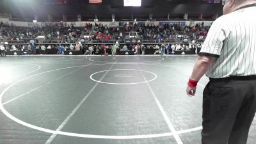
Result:
M0 42L28 40L26 45L2 45L4 51L28 51L29 54L36 54L36 49L44 54L45 49L58 49L58 54L63 51L80 51L82 54L105 54L111 53L113 45L98 45L88 42L91 40L122 40L127 32L137 32L144 40L177 40L182 38L193 38L203 40L207 36L209 26L196 24L196 26L181 26L177 24L163 24L161 26L125 23L120 27L109 27L103 24L86 23L84 27L63 26L63 24L44 24L44 26L17 27L13 24L4 24L0 22ZM44 36L45 40L66 40L65 45L41 45L40 42L30 44L29 40L35 40L38 36ZM85 41L82 44L81 39ZM70 42L72 41L73 42ZM51 42L51 41L49 41ZM77 45L73 45L76 43ZM19 44L19 43L17 43ZM58 44L58 43L57 43ZM102 48L103 47L103 48ZM136 53L145 53L145 49L154 49L154 54L167 51L189 51L190 49L199 48L200 45L187 44L168 44L168 45L119 45L117 51L134 51ZM104 50L104 52L102 52ZM118 52L117 52L118 54Z

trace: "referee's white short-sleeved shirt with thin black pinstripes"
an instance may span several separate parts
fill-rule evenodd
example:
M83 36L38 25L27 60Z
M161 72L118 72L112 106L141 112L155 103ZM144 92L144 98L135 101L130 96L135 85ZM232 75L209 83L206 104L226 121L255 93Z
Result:
M256 75L256 5L223 15L212 23L199 55L214 56L207 77Z

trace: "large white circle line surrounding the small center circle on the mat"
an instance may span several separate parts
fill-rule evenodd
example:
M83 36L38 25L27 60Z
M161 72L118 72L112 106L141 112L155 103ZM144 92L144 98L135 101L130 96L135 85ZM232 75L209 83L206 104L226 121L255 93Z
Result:
M108 63L108 64L104 63L104 64L94 64L94 65L112 65L112 64L111 63ZM6 93L10 88L12 88L12 86L14 86L17 83L20 83L21 81L29 79L30 77L38 76L38 75L49 73L49 72L54 72L54 71L57 71L57 70L64 70L64 69L76 68L76 67L88 67L88 66L94 66L94 65L79 65L79 66L74 66L74 67L58 68L58 69L49 70L49 71L46 71L46 72L40 72L38 74L34 74L34 75L31 75L31 76L28 76L28 77L24 77L23 79L20 79L19 81L16 81L15 83L11 84L7 88L5 88L3 90L3 92L0 93L0 109L4 113L4 115L8 116L8 118L13 120L14 122L17 122L18 124L24 125L26 127L29 127L31 129L35 129L35 130L38 130L38 131L48 132L48 133L51 133L51 134L60 134L60 135L63 135L63 136L74 136L74 137L79 137L79 138L95 138L95 139L129 140L129 139L143 139L143 138L159 138L159 137L173 136L173 134L175 134L173 132L166 132L166 133L162 133L162 134L141 134L141 135L130 135L130 136L106 136L106 135L79 134L79 133L73 133L73 132L54 131L54 130L51 130L51 129L45 129L43 127L38 127L36 125L31 125L31 124L28 124L27 122L19 120L19 118L16 118L15 116L11 115L8 111L6 111L6 109L3 106L3 95L4 95L4 93ZM169 67L172 67L172 66L169 66ZM195 127L195 128L192 128L192 129L185 129L185 130L177 131L176 133L177 134L183 134L183 133L187 133L187 132L198 131L198 130L201 130L201 129L202 129L202 126Z

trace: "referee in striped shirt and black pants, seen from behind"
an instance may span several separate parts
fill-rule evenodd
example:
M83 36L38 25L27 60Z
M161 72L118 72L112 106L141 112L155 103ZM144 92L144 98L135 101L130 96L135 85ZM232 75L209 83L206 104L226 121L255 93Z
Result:
M246 144L256 112L256 1L223 0L189 78L187 94L206 73L202 144Z

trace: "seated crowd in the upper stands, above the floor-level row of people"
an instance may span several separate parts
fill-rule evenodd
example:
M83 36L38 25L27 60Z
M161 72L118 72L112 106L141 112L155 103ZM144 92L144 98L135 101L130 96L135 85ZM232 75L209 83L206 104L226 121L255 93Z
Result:
M109 27L103 24L86 23L84 27L73 25L64 27L63 24L44 24L44 26L17 27L13 24L0 22L0 41L36 39L45 36L45 40L70 40L86 42L91 40L122 40L126 32L135 31L144 40L173 40L180 38L194 38L203 40L207 36L209 26L197 24L196 26L181 26L177 24L164 24L163 26L129 23L120 27Z

